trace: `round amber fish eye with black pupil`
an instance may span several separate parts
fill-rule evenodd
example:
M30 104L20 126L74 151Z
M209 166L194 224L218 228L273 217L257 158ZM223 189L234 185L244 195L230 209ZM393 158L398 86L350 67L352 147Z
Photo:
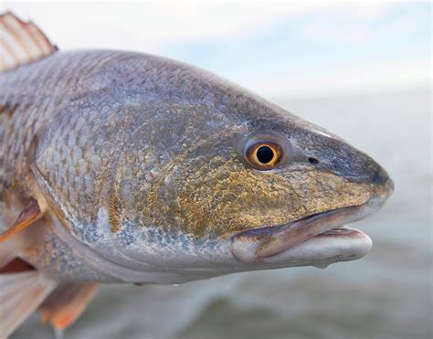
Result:
M280 163L283 152L278 143L256 142L248 145L245 157L249 164L259 170L275 168Z

